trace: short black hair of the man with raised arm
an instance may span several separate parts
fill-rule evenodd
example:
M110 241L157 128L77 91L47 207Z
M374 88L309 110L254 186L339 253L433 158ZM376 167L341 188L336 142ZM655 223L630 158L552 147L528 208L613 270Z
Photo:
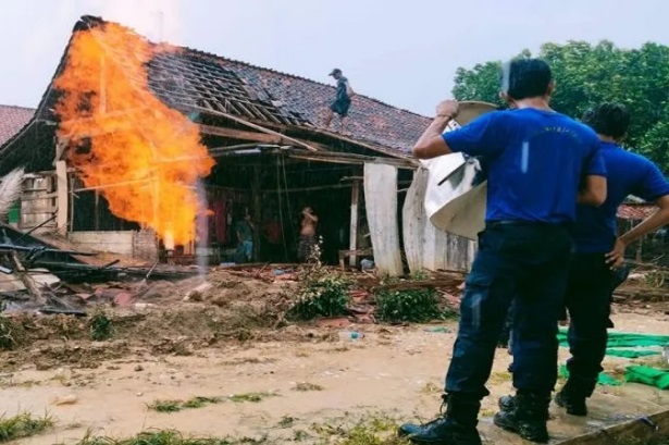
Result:
M545 96L552 81L550 66L541 59L515 59L501 66L501 91L513 100Z

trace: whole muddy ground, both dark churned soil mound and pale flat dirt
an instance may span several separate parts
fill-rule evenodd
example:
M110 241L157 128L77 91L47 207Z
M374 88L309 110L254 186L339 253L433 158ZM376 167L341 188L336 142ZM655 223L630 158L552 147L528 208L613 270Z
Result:
M0 412L49 412L55 427L25 444L77 443L87 433L122 437L147 429L250 437L259 443L336 443L356 422L428 420L439 408L456 321L432 325L346 327L290 324L283 311L295 283L215 276L154 285L126 308L106 309L109 341L90 341L90 318L11 317L14 350L1 353ZM666 304L617 305L617 329L669 335ZM438 329L436 329L438 327ZM562 360L567 351L561 350ZM655 359L657 360L657 359ZM487 443L511 444L491 424L511 390L510 357L498 350L484 400ZM631 360L607 358L620 373ZM236 396L236 397L231 397ZM157 400L211 397L216 403L157 412ZM669 394L639 384L600 387L586 420L550 422L556 441L669 407Z

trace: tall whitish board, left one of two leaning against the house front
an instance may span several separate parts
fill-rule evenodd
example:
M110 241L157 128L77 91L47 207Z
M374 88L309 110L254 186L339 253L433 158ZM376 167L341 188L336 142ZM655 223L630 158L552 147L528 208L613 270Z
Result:
M364 164L364 202L374 262L389 276L402 274L397 226L397 168Z

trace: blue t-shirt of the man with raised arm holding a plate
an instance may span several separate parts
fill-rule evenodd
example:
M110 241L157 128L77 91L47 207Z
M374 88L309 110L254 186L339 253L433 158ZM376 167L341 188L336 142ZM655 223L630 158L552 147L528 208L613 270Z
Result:
M493 111L444 140L454 152L483 158L486 221L572 223L583 176L606 176L595 132L553 111Z

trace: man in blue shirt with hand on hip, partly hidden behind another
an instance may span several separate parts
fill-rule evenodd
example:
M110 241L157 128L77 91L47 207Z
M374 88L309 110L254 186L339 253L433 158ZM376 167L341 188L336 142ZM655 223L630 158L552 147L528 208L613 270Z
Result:
M630 115L619 103L602 103L583 116L600 139L607 170L608 196L598 208L579 206L566 306L569 311L569 379L555 401L572 416L587 416L585 400L592 396L604 370L607 329L615 288L627 279L624 250L631 243L669 223L669 182L648 159L620 147L630 126ZM653 201L658 210L616 239L616 213L629 196ZM611 270L612 269L612 270ZM500 406L512 406L503 397Z

